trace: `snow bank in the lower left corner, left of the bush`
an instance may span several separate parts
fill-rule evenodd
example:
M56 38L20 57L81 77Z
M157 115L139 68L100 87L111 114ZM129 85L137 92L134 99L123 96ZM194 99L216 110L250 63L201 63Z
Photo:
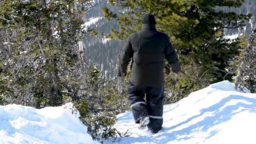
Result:
M69 108L0 106L0 144L96 144Z

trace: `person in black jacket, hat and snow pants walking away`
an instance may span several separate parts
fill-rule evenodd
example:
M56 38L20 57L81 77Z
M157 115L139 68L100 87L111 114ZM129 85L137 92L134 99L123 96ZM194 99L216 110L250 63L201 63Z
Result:
M152 14L144 15L142 30L132 33L123 47L119 69L119 76L124 77L132 58L128 102L139 129L147 126L152 133L160 131L163 125L164 58L173 72L181 70L169 37L157 32L155 24Z

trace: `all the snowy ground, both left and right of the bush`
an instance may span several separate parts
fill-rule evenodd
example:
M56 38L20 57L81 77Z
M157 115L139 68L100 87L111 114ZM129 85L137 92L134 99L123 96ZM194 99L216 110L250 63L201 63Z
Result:
M70 104L67 104L67 107ZM34 109L0 106L0 144L93 144L78 115L69 108ZM163 130L138 130L131 112L117 116L115 125L130 137L106 144L255 144L256 93L235 91L228 81L191 93L164 106Z

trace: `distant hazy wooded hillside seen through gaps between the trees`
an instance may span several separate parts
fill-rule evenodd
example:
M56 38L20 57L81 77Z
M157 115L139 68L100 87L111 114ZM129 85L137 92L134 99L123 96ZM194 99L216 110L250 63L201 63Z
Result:
M101 12L102 7L108 7L114 13L121 11L118 7L112 7L109 5L108 0L94 0L93 3L99 3L91 10L88 11L88 16L85 17L86 23L90 28L94 28L97 32L110 33L111 27L118 29L117 21L107 21L103 18ZM224 29L225 35L236 34L250 34L252 31L252 25L256 21L256 0L245 0L245 3L240 8L216 8L216 11L235 11L236 13L252 13L253 17L251 21L247 21L246 26L243 29ZM88 37L84 40L86 48L86 57L93 59L99 68L103 70L104 77L111 78L115 75L117 68L117 60L123 46L123 41L120 40L106 40L105 37L98 35L97 37Z

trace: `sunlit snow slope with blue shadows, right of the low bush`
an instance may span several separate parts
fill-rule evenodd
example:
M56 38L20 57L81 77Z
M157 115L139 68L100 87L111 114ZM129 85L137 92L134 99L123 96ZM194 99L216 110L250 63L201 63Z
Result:
M240 93L223 81L164 106L163 129L139 131L131 112L118 115L115 125L130 137L107 144L255 144L256 93Z

